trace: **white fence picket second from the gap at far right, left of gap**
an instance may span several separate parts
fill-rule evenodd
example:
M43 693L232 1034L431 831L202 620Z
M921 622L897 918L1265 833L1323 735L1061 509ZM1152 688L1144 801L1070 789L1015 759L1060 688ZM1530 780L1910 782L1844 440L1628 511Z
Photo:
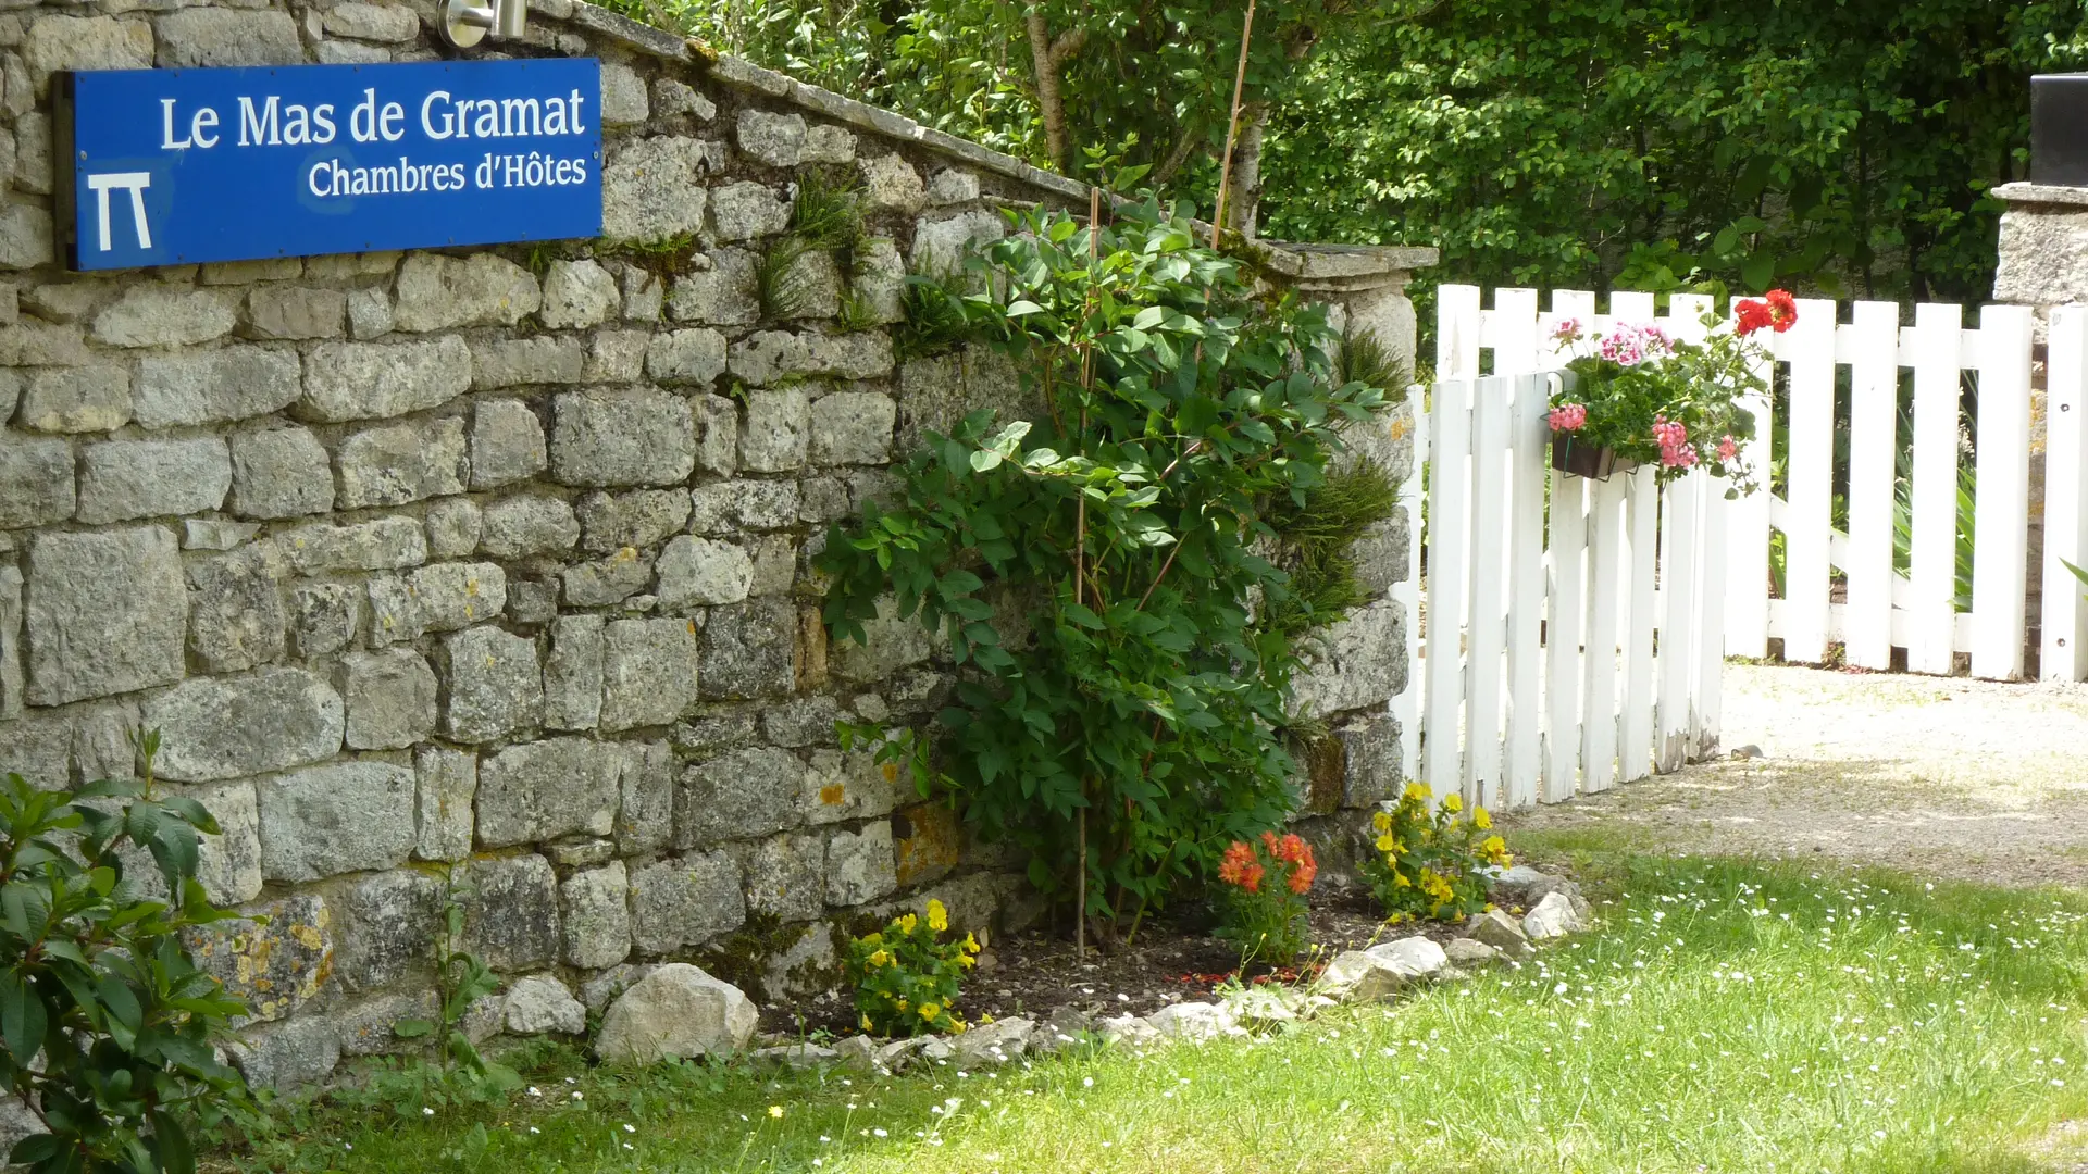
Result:
M1956 660L1956 439L1963 311L1915 307L1913 549L1908 554L1906 666L1950 673Z

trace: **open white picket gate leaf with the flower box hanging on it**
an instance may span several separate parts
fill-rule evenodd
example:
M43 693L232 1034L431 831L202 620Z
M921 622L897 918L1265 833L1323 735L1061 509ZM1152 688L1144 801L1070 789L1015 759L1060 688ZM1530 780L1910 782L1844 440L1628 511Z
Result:
M1497 318L1493 376L1478 376L1478 334L1439 334L1447 378L1426 428L1420 773L1495 806L1608 790L1718 742L1723 485L1553 472L1556 363L1535 295L1528 309L1526 324ZM1652 318L1652 299L1639 309L1622 303ZM1593 297L1574 313L1593 320Z

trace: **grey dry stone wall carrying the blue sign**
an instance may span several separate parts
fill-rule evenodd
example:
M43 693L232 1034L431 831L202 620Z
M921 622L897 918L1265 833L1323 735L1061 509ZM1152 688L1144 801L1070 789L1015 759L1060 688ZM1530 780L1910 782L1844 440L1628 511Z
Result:
M923 430L1015 403L983 355L894 355L904 274L1084 190L532 10L514 52L603 58L603 240L77 276L52 263L54 69L434 58L432 4L0 0L0 769L129 773L127 731L161 731L159 777L223 825L205 884L246 917L196 950L253 1003L259 1082L397 1047L451 894L514 980L476 1032L574 1030L572 992L599 1009L662 959L789 999L858 915L1029 909L948 811L839 752L835 719L919 723L950 677L910 623L829 648L808 560ZM860 182L871 238L764 307L808 167ZM1320 297L1405 313L1411 353L1409 253L1272 267L1366 274ZM1359 443L1399 468L1401 437ZM1411 572L1403 526L1378 583ZM1332 804L1397 781L1403 623L1372 604L1303 687Z

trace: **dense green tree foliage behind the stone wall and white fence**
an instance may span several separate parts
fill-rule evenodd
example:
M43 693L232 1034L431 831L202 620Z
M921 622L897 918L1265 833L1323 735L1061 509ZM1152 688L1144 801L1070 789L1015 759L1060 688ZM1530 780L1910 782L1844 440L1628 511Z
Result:
M1000 150L1144 165L1215 203L1240 0L618 2ZM1034 21L1046 61L1067 50L1044 71L1063 150ZM2082 23L2082 0L1270 0L1236 207L1259 188L1286 240L1439 244L1441 280L1977 301L2027 77L2078 69Z

